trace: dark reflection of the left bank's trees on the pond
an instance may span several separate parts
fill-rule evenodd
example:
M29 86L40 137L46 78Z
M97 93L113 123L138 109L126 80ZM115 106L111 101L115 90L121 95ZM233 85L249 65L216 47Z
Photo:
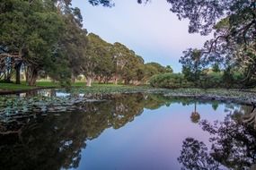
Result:
M115 95L107 101L84 102L74 113L16 116L2 122L1 169L77 167L86 140L132 121L142 113L144 102L142 94Z

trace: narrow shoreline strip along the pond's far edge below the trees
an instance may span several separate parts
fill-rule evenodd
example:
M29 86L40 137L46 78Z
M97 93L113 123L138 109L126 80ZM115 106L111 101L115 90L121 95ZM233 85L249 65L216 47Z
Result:
M57 87L35 87L32 89L2 90L0 96L28 93L40 89L57 89ZM158 89L148 86L94 86L91 88L72 87L71 93L116 94L116 93L151 93L163 94L165 97L195 98L206 101L220 101L252 106L256 104L256 91L241 89ZM78 90L78 91L77 91Z

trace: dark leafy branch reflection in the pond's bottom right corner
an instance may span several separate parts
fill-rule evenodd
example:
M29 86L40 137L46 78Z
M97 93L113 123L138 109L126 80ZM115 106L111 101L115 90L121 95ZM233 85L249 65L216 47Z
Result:
M202 169L217 169L212 167L218 164L231 169L249 169L256 163L256 130L252 125L237 120L237 117L234 119L232 115L227 115L221 123L204 120L200 125L211 134L210 154L204 143L185 140L178 158L185 168L197 169L196 166L203 163L205 168ZM198 157L197 153L201 156Z

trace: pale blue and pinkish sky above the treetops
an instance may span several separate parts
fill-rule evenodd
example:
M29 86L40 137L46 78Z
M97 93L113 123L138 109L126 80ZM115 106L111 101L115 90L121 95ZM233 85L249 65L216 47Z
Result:
M188 32L189 21L179 21L166 0L137 4L137 0L115 0L112 8L92 6L87 0L73 0L81 9L84 28L104 40L120 42L145 62L171 65L181 72L179 59L189 47L203 47L209 37Z

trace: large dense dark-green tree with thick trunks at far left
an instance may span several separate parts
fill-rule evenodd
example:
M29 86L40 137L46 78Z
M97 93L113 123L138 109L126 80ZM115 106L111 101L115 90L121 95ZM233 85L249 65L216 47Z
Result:
M1 59L11 58L17 82L22 61L29 85L35 85L40 70L48 66L56 51L63 22L50 0L2 1L0 6Z

